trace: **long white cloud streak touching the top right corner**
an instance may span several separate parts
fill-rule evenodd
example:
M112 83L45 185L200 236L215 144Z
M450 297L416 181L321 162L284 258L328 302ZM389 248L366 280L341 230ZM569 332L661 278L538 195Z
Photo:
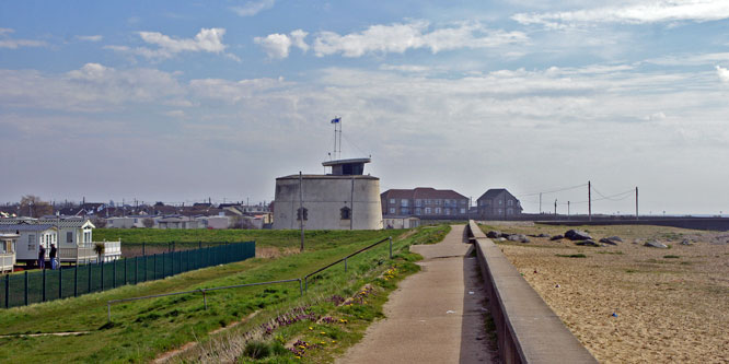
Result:
M576 11L518 13L512 16L521 24L542 24L548 27L589 23L707 22L728 17L729 2L726 0L657 0Z

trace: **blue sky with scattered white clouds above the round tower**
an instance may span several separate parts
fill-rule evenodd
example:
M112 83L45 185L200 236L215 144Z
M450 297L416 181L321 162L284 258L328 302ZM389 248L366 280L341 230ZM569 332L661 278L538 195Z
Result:
M382 191L718 214L728 96L726 0L2 1L0 202L270 201L339 116Z

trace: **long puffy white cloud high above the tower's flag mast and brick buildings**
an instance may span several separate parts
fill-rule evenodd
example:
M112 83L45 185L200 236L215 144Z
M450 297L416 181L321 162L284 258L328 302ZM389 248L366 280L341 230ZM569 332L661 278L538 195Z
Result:
M429 23L414 21L406 24L371 25L360 33L339 35L321 32L314 40L316 56L342 54L344 57L361 57L366 54L403 54L409 49L427 48L433 54L460 48L487 48L524 43L521 32L491 31L479 23L460 23L428 32Z

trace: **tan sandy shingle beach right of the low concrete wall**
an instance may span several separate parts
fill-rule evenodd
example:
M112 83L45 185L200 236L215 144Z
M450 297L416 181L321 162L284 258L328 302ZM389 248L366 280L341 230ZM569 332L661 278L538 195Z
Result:
M568 230L488 223L483 228L491 227L532 235ZM497 244L601 363L729 362L729 233L635 225L583 230L595 239L617 235L624 242L581 247L530 237ZM647 239L670 248L645 247ZM564 257L579 254L586 257Z

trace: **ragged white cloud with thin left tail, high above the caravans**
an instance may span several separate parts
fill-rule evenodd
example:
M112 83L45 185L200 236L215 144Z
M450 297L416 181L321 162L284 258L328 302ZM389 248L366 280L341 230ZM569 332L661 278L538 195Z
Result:
M105 46L105 49L115 51L127 52L136 56L141 56L148 59L166 59L176 56L180 52L211 52L223 54L232 59L238 59L234 55L225 54L228 47L222 43L224 28L201 28L194 38L172 38L159 32L139 32L141 39L150 45L155 45L158 48L136 47L128 46Z

